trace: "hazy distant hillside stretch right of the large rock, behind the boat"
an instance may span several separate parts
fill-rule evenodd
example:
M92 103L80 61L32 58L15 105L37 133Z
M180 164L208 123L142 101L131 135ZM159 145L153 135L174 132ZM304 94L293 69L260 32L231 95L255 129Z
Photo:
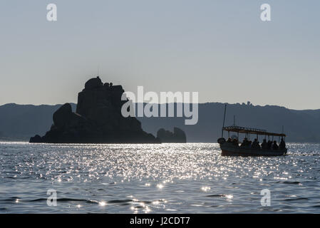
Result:
M199 105L197 125L184 125L185 118L138 118L145 131L155 134L159 128L177 126L185 131L187 142L217 142L221 136L223 103ZM287 142L320 142L320 110L289 110L279 106L254 106L252 104L227 105L225 125L261 128L288 135ZM224 137L227 133L224 133Z

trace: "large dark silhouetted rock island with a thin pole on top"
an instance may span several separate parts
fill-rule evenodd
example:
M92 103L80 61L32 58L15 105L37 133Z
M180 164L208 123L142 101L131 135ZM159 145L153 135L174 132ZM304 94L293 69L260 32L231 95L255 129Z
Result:
M121 100L122 86L103 84L91 78L78 93L76 113L66 103L53 113L53 125L42 138L30 142L51 143L157 143L152 134L145 133L136 118L124 118Z

